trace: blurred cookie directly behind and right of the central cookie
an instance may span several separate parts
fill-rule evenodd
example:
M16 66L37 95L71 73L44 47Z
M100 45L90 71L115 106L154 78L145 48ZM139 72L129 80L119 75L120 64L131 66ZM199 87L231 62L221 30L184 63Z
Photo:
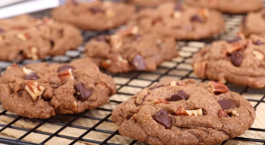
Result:
M209 38L224 29L221 13L166 2L156 9L142 9L132 17L129 25L137 25L145 32L156 31L177 40Z

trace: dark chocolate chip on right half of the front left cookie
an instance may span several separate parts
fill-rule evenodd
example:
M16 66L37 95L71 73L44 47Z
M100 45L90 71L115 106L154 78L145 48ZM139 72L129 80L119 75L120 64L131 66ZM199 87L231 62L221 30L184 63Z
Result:
M74 88L76 91L75 96L77 97L77 100L82 102L86 101L92 93L92 90L84 87L82 82L77 83Z

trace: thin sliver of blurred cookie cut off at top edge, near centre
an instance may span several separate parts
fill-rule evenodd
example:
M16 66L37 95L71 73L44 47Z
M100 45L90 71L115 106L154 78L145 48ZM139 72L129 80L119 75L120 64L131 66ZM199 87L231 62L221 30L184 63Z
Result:
M127 0L137 6L157 6L166 1L177 1L177 0Z

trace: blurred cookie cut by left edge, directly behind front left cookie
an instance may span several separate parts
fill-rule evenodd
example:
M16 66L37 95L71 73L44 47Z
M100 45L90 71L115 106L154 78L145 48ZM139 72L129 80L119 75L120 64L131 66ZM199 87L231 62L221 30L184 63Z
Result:
M64 55L83 43L79 29L48 17L22 15L4 19L0 20L0 29L0 60Z

